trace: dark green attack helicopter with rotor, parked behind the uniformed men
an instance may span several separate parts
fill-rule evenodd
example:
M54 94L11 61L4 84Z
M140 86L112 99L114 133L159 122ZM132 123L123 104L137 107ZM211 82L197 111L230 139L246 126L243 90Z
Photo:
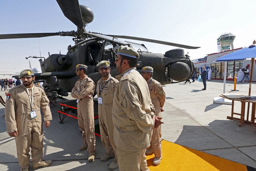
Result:
M47 36L74 37L72 40L75 44L68 46L67 54L49 54L48 58L39 59L42 73L35 73L35 77L37 80L45 80L43 86L50 97L68 96L68 92L71 92L78 79L75 73L75 66L77 64L88 66L87 75L94 82L101 78L96 65L102 60L110 61L112 76L118 75L114 61L116 51L121 45L137 50L140 58L136 68L140 70L144 66L153 67L154 79L162 84L181 82L192 77L195 71L193 62L189 59L188 55L184 55L184 50L181 48L196 49L199 47L132 36L87 32L85 29L86 25L94 19L94 13L89 7L79 5L78 0L57 0L57 3L65 17L76 25L76 31L0 35L0 39L40 38ZM166 51L165 54L150 53L144 44L132 43L123 39L140 40L180 48Z

